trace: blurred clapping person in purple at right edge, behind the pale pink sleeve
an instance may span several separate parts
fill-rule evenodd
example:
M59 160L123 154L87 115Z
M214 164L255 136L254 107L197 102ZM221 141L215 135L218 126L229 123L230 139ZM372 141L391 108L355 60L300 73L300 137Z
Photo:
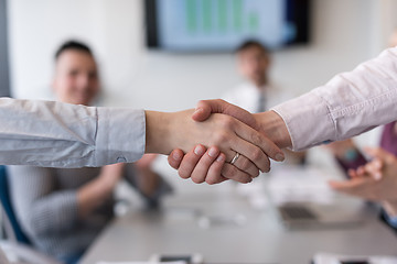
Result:
M389 46L397 46L397 29L389 38ZM397 195L388 194L390 188L395 191L397 186L397 121L384 125L379 146L378 150L367 151L374 158L367 161L352 139L326 145L350 178L346 182L330 184L337 191L378 201L384 209L382 212L384 220L397 230ZM385 168L382 168L382 164Z

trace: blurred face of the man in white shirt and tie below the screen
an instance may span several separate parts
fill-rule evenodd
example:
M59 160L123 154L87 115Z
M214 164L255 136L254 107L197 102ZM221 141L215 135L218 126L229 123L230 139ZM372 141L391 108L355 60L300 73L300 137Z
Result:
M245 78L257 87L266 85L270 66L270 58L266 51L259 46L250 46L239 51L237 58L239 72Z

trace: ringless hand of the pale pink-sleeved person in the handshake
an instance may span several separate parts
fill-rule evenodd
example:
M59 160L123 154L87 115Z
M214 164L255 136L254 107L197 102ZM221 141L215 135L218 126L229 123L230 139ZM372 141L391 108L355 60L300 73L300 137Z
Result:
M275 112L266 112L261 114L251 114L246 110L230 105L224 100L207 100L200 101L197 103L196 110L193 113L192 118L195 121L204 121L214 112L224 113L232 116L247 125L256 129L262 130L265 134L271 134L275 141L278 141L282 146L291 145L290 136L288 134L287 128L282 121L282 119ZM258 121L262 121L259 123ZM267 122L264 122L267 121ZM285 136L285 139L282 139ZM196 146L200 147L200 146ZM225 170L235 169L230 164L225 164L222 169L222 164L224 163L222 156L216 158L216 156L208 155L208 151L206 155L203 156L205 150L194 148L196 152L191 151L186 155L181 150L174 150L169 156L169 164L179 169L179 174L183 178L190 177L192 175L192 180L194 183L222 183L227 178L240 182L240 183L249 183L251 179L244 174L233 174L229 175L225 173ZM203 158L201 158L203 156ZM277 161L282 161L283 156L279 156L275 158ZM216 162L214 162L216 161ZM230 161L230 160L228 160ZM258 170L254 170L253 166L249 165L249 161L246 158L239 157L235 163L235 166L240 170L250 170L251 177L258 176ZM235 169L236 170L236 169Z

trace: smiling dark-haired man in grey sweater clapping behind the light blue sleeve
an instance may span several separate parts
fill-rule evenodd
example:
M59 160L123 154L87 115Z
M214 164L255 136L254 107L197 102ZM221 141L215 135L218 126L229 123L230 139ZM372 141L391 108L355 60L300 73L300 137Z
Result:
M99 77L86 45L67 42L60 47L52 87L60 101L86 106L94 101ZM73 169L10 166L10 196L23 231L40 251L75 263L112 219L112 193L122 178L150 206L170 190L150 169L152 160Z

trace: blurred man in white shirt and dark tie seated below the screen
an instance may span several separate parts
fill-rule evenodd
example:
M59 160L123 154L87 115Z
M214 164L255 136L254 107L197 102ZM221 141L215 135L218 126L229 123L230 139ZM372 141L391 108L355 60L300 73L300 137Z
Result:
M223 96L222 99L251 113L264 112L290 97L269 80L270 52L257 41L246 41L236 51L237 68L245 81ZM304 164L304 152L283 150L286 162Z

